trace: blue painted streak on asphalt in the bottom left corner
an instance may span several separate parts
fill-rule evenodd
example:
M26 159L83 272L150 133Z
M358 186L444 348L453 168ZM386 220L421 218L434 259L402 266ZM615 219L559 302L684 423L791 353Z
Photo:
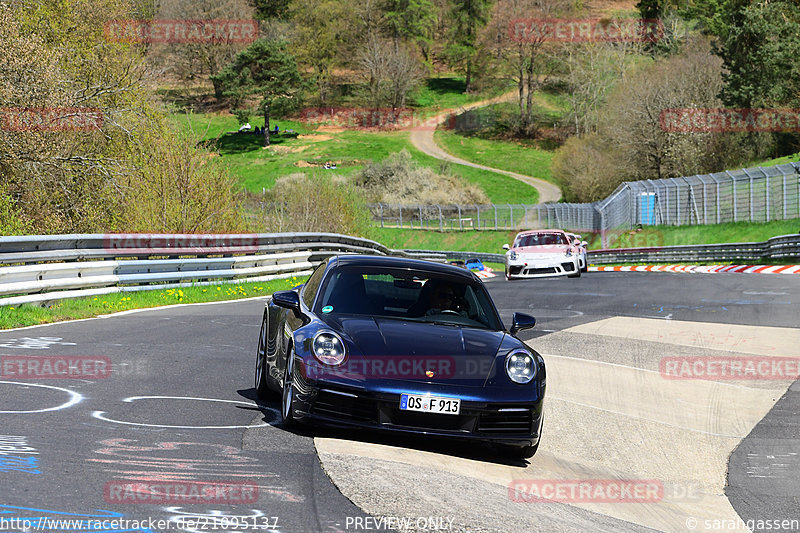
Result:
M28 515L28 513L34 513ZM42 514L39 514L42 513ZM67 513L63 511L51 511L47 509L37 509L33 507L17 507L15 505L0 504L0 533L15 533L5 528L20 529L20 524L25 525L25 530L31 527L46 531L93 531L103 533L156 533L152 529L120 529L112 528L112 522L116 525L124 523L125 515L98 509L97 514ZM105 521L107 526L103 527ZM128 520L128 523L135 520ZM141 522L141 521L140 521ZM139 525L139 524L137 524Z

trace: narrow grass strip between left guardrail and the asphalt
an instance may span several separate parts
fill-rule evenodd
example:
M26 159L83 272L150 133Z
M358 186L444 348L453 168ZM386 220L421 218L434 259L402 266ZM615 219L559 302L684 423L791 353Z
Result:
M91 318L130 309L267 296L278 290L290 289L304 281L305 279L288 278L262 283L221 283L180 289L106 294L91 298L60 300L51 307L36 304L24 304L19 307L0 306L0 329Z

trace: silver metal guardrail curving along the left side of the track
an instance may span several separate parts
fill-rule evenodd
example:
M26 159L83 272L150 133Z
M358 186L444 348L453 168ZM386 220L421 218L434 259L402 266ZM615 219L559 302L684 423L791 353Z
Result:
M0 306L306 276L338 253L444 261L334 233L0 237Z

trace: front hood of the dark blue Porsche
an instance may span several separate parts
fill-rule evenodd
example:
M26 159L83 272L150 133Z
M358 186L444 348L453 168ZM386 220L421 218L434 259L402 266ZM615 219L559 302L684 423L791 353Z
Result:
M355 379L482 386L495 372L506 336L503 331L390 318L326 318L350 348L344 366Z

